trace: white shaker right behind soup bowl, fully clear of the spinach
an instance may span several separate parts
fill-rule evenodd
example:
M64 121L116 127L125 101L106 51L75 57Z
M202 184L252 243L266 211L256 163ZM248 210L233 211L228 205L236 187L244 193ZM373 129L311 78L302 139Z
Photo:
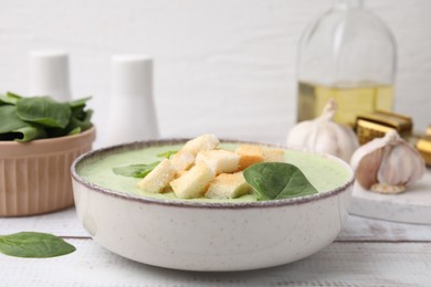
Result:
M105 144L158 138L153 98L153 60L146 55L114 55Z

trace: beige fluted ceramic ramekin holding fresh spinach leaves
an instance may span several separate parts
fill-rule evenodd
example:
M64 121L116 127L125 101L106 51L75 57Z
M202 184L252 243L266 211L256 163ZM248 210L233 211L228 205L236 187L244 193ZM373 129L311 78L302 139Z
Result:
M73 205L71 164L92 149L95 128L30 142L0 141L0 216L52 212Z

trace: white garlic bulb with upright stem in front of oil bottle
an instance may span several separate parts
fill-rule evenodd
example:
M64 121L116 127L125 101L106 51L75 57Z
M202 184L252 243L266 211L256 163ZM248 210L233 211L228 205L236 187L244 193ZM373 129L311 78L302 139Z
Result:
M359 144L351 128L333 121L336 111L335 99L330 99L318 118L293 127L287 147L329 153L348 162Z

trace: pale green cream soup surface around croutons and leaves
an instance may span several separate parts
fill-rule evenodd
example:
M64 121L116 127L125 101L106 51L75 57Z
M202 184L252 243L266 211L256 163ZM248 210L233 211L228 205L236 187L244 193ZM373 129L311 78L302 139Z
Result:
M238 144L220 144L219 147L228 150L234 150ZM87 158L76 167L77 173L86 181L98 187L109 190L122 191L136 195L158 199L178 199L174 192L150 193L137 188L140 179L115 174L113 168L125 167L130 164L151 163L160 161L165 153L170 150L179 150L180 145L169 145L160 147L146 147L136 149L115 149L108 152L102 152L95 157ZM346 183L349 178L349 171L339 162L328 160L318 156L286 150L284 161L299 168L308 181L317 189L318 192L325 192ZM187 201L206 201L206 202L250 202L257 201L255 194L246 194L238 199L214 200L207 198L188 199Z

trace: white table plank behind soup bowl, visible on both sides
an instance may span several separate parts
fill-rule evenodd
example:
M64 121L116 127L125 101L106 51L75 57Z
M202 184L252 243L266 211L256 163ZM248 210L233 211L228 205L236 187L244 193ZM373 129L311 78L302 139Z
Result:
M88 237L75 210L55 213L0 219L1 234L39 231L65 237ZM337 241L431 241L431 225L403 224L350 215Z

